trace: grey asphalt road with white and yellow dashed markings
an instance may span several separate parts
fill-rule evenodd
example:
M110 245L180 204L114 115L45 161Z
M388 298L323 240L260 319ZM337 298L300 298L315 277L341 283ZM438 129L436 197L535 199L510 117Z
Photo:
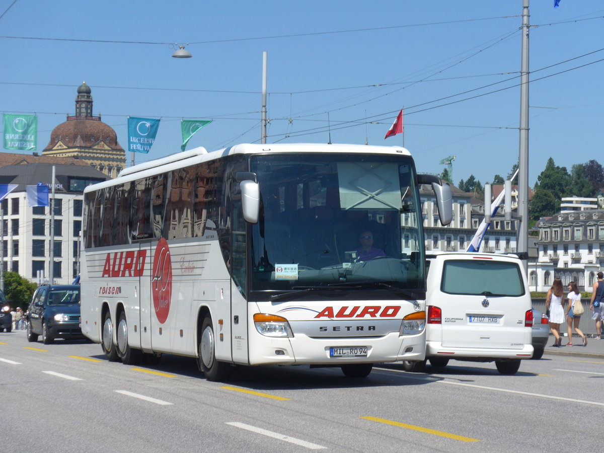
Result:
M564 352L575 348L586 353ZM452 361L428 373L376 365L365 379L243 367L219 383L191 358L134 367L106 361L98 344L0 333L0 451L594 451L603 365L597 352L548 348L515 376Z

